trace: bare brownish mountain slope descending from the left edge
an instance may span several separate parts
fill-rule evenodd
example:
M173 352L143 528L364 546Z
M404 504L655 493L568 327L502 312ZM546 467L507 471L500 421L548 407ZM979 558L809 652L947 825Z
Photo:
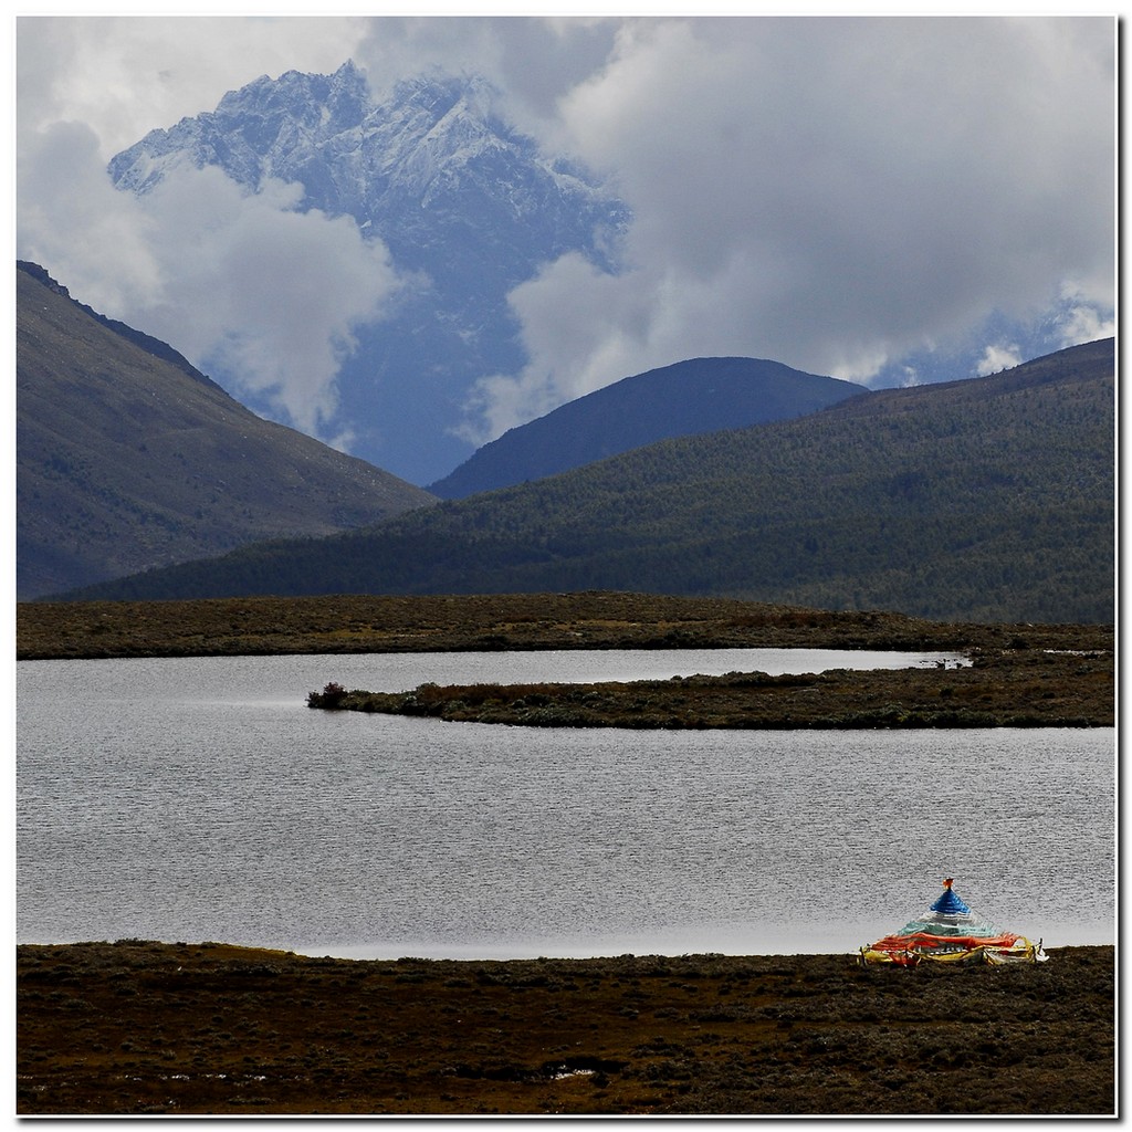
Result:
M16 271L17 597L435 503L260 420L175 350Z

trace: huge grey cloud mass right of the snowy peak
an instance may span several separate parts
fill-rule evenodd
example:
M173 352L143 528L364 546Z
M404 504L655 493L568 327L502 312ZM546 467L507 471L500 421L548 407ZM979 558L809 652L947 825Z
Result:
M1107 19L619 24L558 110L635 211L627 271L516 290L531 362L481 385L482 435L698 354L867 381L1047 316L1066 280L1066 333L1103 326L1113 49Z

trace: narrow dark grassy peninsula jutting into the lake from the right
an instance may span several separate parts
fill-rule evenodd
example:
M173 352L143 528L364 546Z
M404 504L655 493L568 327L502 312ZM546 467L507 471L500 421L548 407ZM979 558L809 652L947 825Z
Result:
M1113 727L1112 653L977 653L969 668L674 677L601 684L424 684L406 693L329 683L308 705L526 727Z

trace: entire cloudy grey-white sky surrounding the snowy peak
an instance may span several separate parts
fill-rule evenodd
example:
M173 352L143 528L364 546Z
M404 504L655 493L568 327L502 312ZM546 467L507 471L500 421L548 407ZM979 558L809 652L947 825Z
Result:
M1113 333L1112 17L26 17L17 256L192 360L226 343L316 430L351 325L395 291L384 249L285 191L147 208L105 164L260 75L350 58L378 96L487 75L635 211L621 275L567 256L513 294L531 363L484 375L480 439L685 358L915 381L933 350L1024 360L1027 324L1050 349ZM321 301L269 292L290 255Z

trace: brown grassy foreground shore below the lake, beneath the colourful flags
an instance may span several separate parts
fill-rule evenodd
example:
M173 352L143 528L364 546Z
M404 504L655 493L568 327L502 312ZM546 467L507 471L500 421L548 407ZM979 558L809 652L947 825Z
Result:
M1112 946L395 961L22 945L17 1112L1110 1115Z

